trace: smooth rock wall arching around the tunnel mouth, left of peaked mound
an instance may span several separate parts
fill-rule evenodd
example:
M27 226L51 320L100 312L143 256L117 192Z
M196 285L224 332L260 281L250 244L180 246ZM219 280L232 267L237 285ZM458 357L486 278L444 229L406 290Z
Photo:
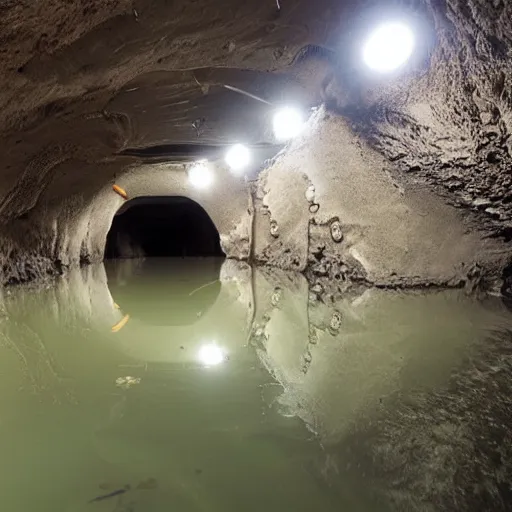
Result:
M60 179L49 184L37 206L23 218L12 219L3 226L0 240L5 247L4 283L28 281L101 261L112 219L124 202L112 190L114 182L127 191L129 198L171 195L195 200L217 227L226 255L248 258L252 225L248 189L243 179L233 177L225 167L216 166L213 185L199 192L188 183L186 166L181 164L135 164L117 179L117 165L107 163L100 169L77 162L66 165L68 169L80 165L85 175L101 173L107 185L96 183L83 190L80 180L73 190L71 183L62 182L69 177L67 169L60 169ZM66 198L60 197L63 187L70 194Z

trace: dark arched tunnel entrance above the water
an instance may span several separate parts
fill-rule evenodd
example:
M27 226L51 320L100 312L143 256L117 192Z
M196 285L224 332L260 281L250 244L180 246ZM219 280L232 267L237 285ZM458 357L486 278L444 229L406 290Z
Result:
M105 258L224 256L206 211L186 197L138 197L116 213Z

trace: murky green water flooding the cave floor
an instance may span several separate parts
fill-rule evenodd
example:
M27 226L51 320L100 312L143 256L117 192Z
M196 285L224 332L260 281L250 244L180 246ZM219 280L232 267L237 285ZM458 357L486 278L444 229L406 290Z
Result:
M324 304L230 261L11 289L2 510L510 510L511 328L497 298Z

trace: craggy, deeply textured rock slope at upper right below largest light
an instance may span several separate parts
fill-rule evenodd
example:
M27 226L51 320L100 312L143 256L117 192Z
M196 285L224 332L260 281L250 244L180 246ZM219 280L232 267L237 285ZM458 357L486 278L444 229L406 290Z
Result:
M474 211L492 236L512 221L512 6L497 0L425 0L423 59L391 80L338 68L330 102L397 169ZM412 16L414 20L414 16ZM425 42L423 42L425 40ZM428 42L427 42L428 40Z

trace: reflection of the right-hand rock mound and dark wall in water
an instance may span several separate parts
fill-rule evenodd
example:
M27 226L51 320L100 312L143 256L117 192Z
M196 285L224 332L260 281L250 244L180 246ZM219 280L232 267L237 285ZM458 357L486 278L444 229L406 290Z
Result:
M492 325L499 301L469 313L473 299L462 291L352 289L325 302L316 283L309 286L315 299L298 302L302 276L256 275L251 343L283 386L283 411L322 441L315 468L326 492L336 488L343 500L347 488L337 486L349 482L355 502L375 500L381 510L509 509L511 434L501 390L509 388L510 332L484 328L473 344L473 320ZM276 283L279 309L270 300ZM308 321L298 327L299 304ZM507 316L505 308L498 314ZM451 367L450 358L459 363ZM427 376L430 364L436 370Z

